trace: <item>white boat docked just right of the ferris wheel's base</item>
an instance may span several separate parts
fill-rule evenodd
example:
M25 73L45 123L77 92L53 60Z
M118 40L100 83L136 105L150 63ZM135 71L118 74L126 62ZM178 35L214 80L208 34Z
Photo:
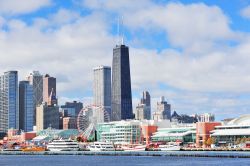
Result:
M89 145L90 151L115 151L111 142L94 142Z

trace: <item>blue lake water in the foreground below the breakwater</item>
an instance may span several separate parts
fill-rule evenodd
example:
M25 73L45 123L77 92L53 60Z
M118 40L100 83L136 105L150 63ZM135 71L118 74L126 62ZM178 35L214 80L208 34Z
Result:
M0 166L182 166L250 165L247 158L81 156L81 155L0 155Z

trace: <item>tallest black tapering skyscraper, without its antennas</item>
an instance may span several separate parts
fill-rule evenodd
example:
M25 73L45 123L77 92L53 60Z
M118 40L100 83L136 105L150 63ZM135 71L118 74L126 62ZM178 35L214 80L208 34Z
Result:
M117 45L112 64L112 120L133 119L129 48Z

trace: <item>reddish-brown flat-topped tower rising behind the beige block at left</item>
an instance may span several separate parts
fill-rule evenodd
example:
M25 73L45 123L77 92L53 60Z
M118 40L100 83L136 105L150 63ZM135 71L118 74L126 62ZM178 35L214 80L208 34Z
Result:
M43 102L48 105L57 104L57 101L51 101L55 100L52 96L56 97L56 78L46 74L43 78Z

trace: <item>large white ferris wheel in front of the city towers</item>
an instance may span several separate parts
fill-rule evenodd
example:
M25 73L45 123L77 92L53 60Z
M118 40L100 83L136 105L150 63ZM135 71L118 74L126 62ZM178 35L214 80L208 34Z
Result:
M97 123L109 122L110 115L103 106L89 105L84 107L77 117L77 128L86 138L95 131Z

